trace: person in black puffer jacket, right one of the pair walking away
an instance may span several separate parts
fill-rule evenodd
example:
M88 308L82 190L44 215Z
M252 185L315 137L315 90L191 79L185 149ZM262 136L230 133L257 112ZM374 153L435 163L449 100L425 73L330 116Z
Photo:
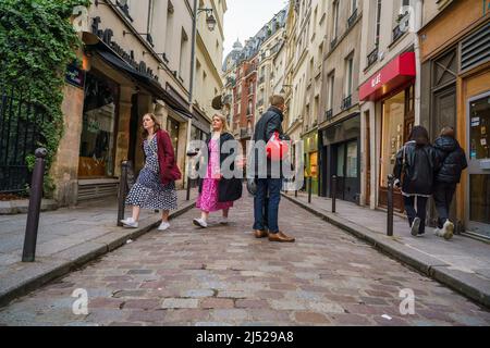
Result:
M441 169L436 173L433 200L438 211L438 228L436 235L451 239L454 233L454 224L449 220L451 201L453 200L456 185L461 182L462 172L468 167L465 151L454 138L454 128L444 127L441 136L433 145Z

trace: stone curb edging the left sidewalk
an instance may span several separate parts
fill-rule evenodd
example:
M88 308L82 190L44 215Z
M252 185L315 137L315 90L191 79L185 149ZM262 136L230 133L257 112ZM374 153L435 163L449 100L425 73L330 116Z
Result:
M183 206L170 214L170 219L175 219L195 207L195 202ZM33 269L25 271L25 275L19 281L19 274L9 274L2 278L7 287L0 288L0 308L5 307L14 299L25 296L47 283L59 278L73 270L79 269L86 263L126 245L128 239L135 240L158 227L160 220L149 225L132 229L125 233L109 233L97 239L77 245L59 252L54 257L40 258L35 262ZM45 264L42 264L45 263ZM21 275L22 276L22 275ZM12 277L12 279L9 279Z

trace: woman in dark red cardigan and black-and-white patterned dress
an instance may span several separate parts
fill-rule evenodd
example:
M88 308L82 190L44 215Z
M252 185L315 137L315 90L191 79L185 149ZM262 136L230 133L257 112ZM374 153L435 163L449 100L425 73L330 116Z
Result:
M175 181L182 175L175 162L170 136L161 129L156 116L146 114L143 127L145 166L126 199L126 204L133 206L133 215L121 222L124 227L137 228L142 209L161 210L158 231L167 231L170 227L170 210L177 209Z

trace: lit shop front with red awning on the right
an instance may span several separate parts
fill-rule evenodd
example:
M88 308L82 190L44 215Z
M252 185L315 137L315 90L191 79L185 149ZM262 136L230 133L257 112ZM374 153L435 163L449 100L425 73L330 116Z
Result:
M393 173L396 153L408 140L415 124L415 53L405 52L389 62L359 88L362 101L375 103L379 142L372 151L378 152L378 167L369 173L379 173L378 202L379 207L388 206L388 176ZM372 162L371 162L372 163ZM394 190L394 207L403 212L403 196Z

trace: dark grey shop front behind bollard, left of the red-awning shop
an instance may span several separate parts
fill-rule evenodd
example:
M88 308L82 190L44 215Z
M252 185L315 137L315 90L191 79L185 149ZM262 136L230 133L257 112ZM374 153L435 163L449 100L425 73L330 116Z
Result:
M360 196L360 116L355 113L320 130L321 196L332 196L336 176L336 198L358 203Z

